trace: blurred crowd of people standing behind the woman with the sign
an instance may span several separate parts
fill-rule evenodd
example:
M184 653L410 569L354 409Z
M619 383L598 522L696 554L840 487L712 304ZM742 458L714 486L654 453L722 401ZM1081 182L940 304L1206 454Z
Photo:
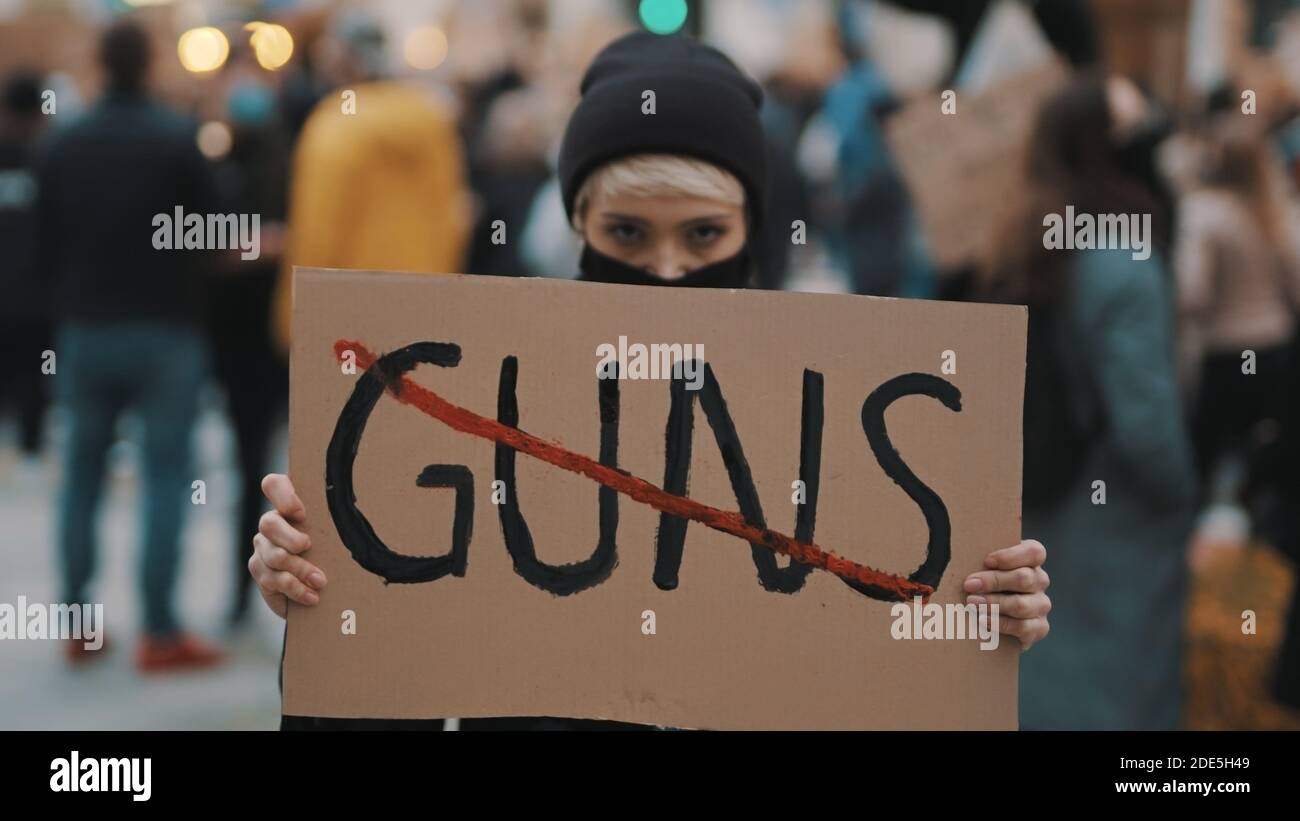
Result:
M0 410L32 457L51 403L65 414L51 516L68 601L95 575L116 420L142 417L138 664L211 665L220 651L172 603L203 386L221 387L242 475L239 624L285 423L291 266L576 275L556 145L582 69L647 25L645 4L214 3L228 53L185 69L179 14L105 5L0 17L16 38L69 16L98 66L0 62ZM1196 562L1245 544L1300 561L1300 4L1153 5L1190 45L1145 73L1114 3L688 3L681 23L766 91L758 287L1030 305L1024 535L1048 546L1054 601L1052 637L1022 659L1032 729L1179 726ZM291 32L274 68L257 21ZM890 43L892 26L914 34ZM1202 60L1210 43L1222 53ZM1067 77L1032 101L1000 227L985 253L940 260L890 121L1039 60ZM157 253L124 227L172 207L260 214L260 256ZM1152 259L1045 248L1044 216L1067 207L1150 214ZM1295 596L1270 676L1269 698L1300 709Z

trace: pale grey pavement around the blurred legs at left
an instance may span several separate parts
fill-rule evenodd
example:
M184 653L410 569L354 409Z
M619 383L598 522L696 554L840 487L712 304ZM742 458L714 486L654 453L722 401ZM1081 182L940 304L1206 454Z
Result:
M274 729L280 718L276 670L282 622L257 605L237 634L222 616L231 585L237 473L230 433L211 392L202 414L195 478L207 481L205 505L190 508L177 601L185 624L230 652L203 673L143 677L131 665L139 624L136 595L138 460L120 443L110 457L99 534L99 577L92 596L104 604L105 657L70 669L53 640L0 640L0 730L13 729ZM0 423L0 601L49 603L57 596L55 500L61 423L51 416L40 460L16 449L17 431ZM124 430L134 435L131 421ZM283 452L283 439L277 443ZM251 535L251 534L250 534ZM239 534L240 540L247 538Z

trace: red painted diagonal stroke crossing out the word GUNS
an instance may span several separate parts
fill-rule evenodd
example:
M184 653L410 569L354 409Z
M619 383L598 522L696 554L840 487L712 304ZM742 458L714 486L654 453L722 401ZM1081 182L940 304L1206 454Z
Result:
M347 351L351 351L356 356L356 364L364 370L369 370L378 361L378 357L370 353L360 342L339 339L334 343L334 355L339 361L343 361ZM841 578L880 587L893 594L900 601L907 601L913 596L928 598L935 591L930 585L922 585L901 575L861 565L842 556L836 556L831 551L822 549L816 544L806 544L775 530L755 527L746 524L740 513L719 511L718 508L701 504L694 499L670 494L642 478L602 465L560 444L538 439L517 427L478 416L473 410L451 404L411 377L403 375L400 378L400 390L395 391L390 385L389 394L402 404L422 410L452 430L504 444L520 453L526 453L556 468L563 468L569 473L578 473L598 485L603 485L636 501L647 504L662 513L689 518L714 530L745 539L750 544L762 544L777 553L789 556L794 561L829 570Z

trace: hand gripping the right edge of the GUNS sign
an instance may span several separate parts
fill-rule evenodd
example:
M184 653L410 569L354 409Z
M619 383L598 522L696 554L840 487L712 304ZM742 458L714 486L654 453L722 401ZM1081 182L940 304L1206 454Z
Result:
M987 570L976 570L966 577L968 604L996 604L998 631L1020 639L1020 651L1048 634L1048 613L1052 599L1046 588L1050 583L1043 562L1048 551L1040 542L1026 539L1004 547L984 557Z

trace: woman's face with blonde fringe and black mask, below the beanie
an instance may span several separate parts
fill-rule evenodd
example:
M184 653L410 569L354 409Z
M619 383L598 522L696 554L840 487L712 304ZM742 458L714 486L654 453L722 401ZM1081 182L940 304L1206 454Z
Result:
M597 169L575 223L585 281L715 288L749 281L744 188L699 160L641 155Z

